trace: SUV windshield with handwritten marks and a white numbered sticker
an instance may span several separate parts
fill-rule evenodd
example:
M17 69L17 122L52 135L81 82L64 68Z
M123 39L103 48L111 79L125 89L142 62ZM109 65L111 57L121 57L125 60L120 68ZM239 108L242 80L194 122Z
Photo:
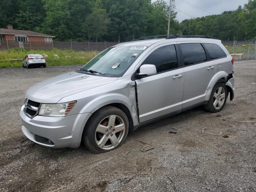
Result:
M80 72L120 77L146 48L146 46L110 47L90 60Z

